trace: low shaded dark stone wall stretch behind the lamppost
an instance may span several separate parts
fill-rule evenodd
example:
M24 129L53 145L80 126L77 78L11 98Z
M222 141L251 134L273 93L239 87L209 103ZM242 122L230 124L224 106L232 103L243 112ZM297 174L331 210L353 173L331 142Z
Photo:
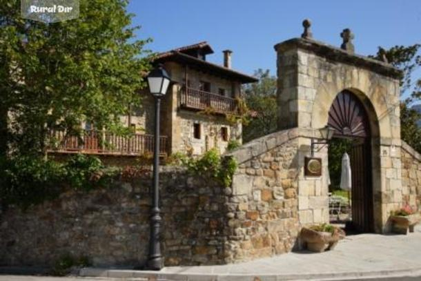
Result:
M94 266L139 266L148 253L150 173L90 192L67 191L0 217L0 265L51 266L63 255ZM225 188L184 169L161 174L166 265L224 262Z

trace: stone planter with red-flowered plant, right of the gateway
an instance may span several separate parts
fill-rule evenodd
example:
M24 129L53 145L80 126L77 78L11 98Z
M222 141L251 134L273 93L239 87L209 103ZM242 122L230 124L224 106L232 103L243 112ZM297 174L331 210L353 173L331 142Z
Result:
M413 227L421 220L420 214L415 213L411 206L404 206L398 211L392 211L390 220L392 222L392 232L407 234L413 232Z

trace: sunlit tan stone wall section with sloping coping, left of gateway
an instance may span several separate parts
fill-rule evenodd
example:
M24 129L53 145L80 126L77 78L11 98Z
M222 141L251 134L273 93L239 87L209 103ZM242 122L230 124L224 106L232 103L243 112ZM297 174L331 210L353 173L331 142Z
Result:
M297 245L299 198L304 193L298 186L304 166L300 143L311 135L312 130L284 130L228 154L237 159L239 169L228 200L227 262L286 253ZM305 197L316 198L313 190L306 191ZM325 203L324 209L328 207ZM306 211L313 213L312 208L307 204Z

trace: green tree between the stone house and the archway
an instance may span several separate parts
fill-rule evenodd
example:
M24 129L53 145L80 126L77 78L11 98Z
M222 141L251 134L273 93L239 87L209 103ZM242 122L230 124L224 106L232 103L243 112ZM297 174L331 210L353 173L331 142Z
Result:
M252 119L244 126L244 142L268 135L277 130L277 79L269 70L258 69L254 74L259 81L244 88L246 104L251 111Z

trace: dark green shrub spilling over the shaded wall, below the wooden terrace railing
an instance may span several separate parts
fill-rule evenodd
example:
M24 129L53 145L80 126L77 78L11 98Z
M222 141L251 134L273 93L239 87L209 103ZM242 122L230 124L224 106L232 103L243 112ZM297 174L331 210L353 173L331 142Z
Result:
M119 169L105 168L97 157L75 155L64 164L41 157L0 159L0 201L23 209L57 197L66 186L89 190L104 185Z

